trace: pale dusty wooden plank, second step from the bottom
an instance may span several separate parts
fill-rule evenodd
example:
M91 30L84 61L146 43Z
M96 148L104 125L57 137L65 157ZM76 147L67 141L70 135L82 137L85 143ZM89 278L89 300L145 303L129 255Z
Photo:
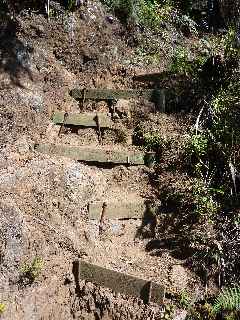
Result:
M103 208L103 202L89 203L89 219L99 219ZM105 217L107 219L142 219L146 216L153 218L154 206L145 199L128 202L106 203Z

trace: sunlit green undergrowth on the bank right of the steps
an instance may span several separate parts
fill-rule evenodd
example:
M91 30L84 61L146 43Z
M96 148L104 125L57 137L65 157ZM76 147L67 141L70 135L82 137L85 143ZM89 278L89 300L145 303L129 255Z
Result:
M159 233L172 237L174 230L178 242L190 243L192 253L188 263L206 287L210 281L219 287L232 286L215 300L206 295L201 302L193 302L184 292L180 293L177 301L188 311L187 319L238 319L240 50L237 31L230 28L225 35L210 35L198 44L195 52L178 46L169 65L171 73L187 79L182 86L176 84L177 104L187 96L194 120L179 166L179 171L187 175L186 180L178 183L170 180L159 186L164 210L174 211L167 216L165 224L162 222L165 229L171 225L169 234L164 228ZM139 136L146 144L146 134Z

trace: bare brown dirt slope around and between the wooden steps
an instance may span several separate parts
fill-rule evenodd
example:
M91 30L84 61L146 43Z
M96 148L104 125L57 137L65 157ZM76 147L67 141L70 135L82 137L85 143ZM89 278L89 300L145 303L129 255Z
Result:
M117 121L126 133L125 144L116 141L112 130L106 130L103 145L93 129L67 130L58 136L59 126L51 121L54 110L108 111L104 103L82 107L69 96L69 89L130 88L134 74L158 71L144 64L126 65L133 49L125 42L120 23L109 24L99 4L89 1L83 15L60 15L48 23L41 15L26 14L18 18L19 30L11 34L12 59L16 55L24 59L16 66L15 78L7 68L0 77L0 302L6 305L4 320L160 319L161 306L147 306L91 284L81 283L77 288L72 264L79 258L153 279L171 290L191 289L196 280L183 261L167 250L155 255L145 250L153 240L150 225L142 229L148 234L143 237L141 220L106 221L98 236L98 221L87 218L89 202L149 198L159 202L154 169L89 166L33 149L36 142L48 142L133 150L137 148L132 146L133 129L145 119L144 113L155 118L163 136L181 133L181 119L150 114L151 104L131 101L130 120ZM36 256L44 261L41 274L31 286L22 287L21 267Z

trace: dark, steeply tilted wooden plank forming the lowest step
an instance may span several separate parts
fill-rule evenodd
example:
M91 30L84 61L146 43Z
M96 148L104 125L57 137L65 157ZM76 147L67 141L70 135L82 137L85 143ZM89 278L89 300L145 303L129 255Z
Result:
M79 261L79 280L92 282L116 293L138 297L145 303L162 303L165 296L165 288L162 285L83 260Z

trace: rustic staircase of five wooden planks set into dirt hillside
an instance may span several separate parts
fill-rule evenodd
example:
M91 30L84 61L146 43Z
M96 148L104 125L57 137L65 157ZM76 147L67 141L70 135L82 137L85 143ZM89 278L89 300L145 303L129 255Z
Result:
M135 167L134 170L136 171L138 167L141 168L141 170L149 170L147 168L154 166L155 154L153 152L144 152L131 144L124 147L114 142L110 145L105 144L104 137L106 131L111 131L114 136L116 133L116 123L124 128L123 119L118 118L116 120L115 117L115 106L118 99L138 99L139 97L144 97L145 99L153 101L159 108L163 102L165 103L165 97L163 97L161 90L73 89L71 95L81 101L82 112L55 111L52 115L52 122L58 131L56 141L54 143L36 143L34 146L36 152L48 154L53 157L66 157L75 161L81 161L86 165L97 166L103 171L119 166L125 168ZM84 110L86 100L103 100L107 102L109 109L105 111L87 112ZM88 141L85 142L85 139L83 139L83 142L77 142L76 145L79 133L81 134L84 130L88 129L91 129L92 135L97 137L97 139L95 139L97 143L89 144ZM64 141L66 136L68 136L68 143L63 143L62 141ZM75 137L75 142L72 142L74 141L73 136ZM141 185L139 185L139 188L141 188ZM135 248L134 250L136 250L136 252L139 251L139 261L141 260L141 255L143 255L146 261L152 259L152 264L157 262L157 257L148 257L148 254L142 248L145 243L142 242L139 245L139 240L136 240L137 233L139 233L139 230L142 232L144 228L148 229L150 233L152 231L154 233L156 207L157 205L154 201L150 201L136 194L134 190L131 193L126 192L124 186L122 190L119 189L115 198L111 197L110 200L100 199L99 201L89 203L89 232L86 234L86 238L90 242L92 238L95 238L94 241L99 243L99 252L97 247L94 246L94 250L89 249L89 256L91 256L90 261L88 261L88 258L84 258L86 261L79 261L79 279L92 281L100 286L109 287L119 293L136 296L141 298L145 303L150 301L161 303L164 299L165 286L159 283L159 281L158 283L153 281L153 272L150 272L150 277L145 280L139 277L141 270L133 276L129 275L128 272L124 272L123 267L120 268L120 272L116 271L116 269L119 270L119 268L114 268L115 271L111 270L112 265L110 269L109 260L103 263L105 267L102 267L102 261L99 261L101 254L108 251L107 242L109 238L104 237L104 235L108 233L108 229L111 229L114 236L121 236L121 228L119 228L118 222L116 221L128 221L124 222L124 224L130 223L131 228L133 226L131 230L135 230L135 234L124 238L124 246L126 243L128 246L132 243L133 249ZM121 241L119 241L119 244L120 242ZM137 247L135 247L136 244ZM117 244L115 246L117 246ZM112 247L109 249L110 256L108 259L110 260L111 250L114 250L114 243L112 243ZM88 256L88 254L86 256ZM134 260L134 256L132 256L132 259ZM148 267L146 262L145 264L146 267ZM131 269L131 273L135 273L134 265ZM111 277L109 277L109 274ZM156 277L158 277L158 274L156 274ZM125 283L125 285L123 285L123 283Z

